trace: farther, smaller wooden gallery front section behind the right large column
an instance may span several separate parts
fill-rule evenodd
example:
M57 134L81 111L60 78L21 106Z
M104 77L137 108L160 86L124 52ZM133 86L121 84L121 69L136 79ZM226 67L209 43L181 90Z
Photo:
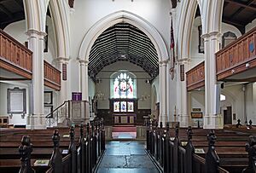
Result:
M201 62L186 72L187 90L199 89L205 85L205 62Z

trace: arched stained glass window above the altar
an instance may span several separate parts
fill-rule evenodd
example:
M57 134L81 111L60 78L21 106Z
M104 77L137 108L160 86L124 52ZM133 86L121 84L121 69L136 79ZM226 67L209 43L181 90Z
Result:
M113 81L113 98L133 98L134 83L125 72L121 72Z

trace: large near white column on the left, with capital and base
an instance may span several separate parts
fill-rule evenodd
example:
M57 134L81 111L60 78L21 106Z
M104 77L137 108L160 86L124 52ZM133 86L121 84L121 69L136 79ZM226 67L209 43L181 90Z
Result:
M45 129L44 118L44 36L45 32L28 30L29 49L32 50L32 114L27 129Z

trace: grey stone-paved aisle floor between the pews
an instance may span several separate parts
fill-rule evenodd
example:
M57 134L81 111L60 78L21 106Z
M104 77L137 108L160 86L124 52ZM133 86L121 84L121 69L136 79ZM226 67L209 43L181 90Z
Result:
M144 141L109 141L98 173L159 173L144 151Z

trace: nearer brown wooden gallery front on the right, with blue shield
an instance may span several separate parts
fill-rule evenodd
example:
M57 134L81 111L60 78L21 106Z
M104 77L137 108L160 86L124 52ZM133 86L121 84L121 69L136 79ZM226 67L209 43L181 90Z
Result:
M256 66L256 27L216 53L217 79L222 80Z

